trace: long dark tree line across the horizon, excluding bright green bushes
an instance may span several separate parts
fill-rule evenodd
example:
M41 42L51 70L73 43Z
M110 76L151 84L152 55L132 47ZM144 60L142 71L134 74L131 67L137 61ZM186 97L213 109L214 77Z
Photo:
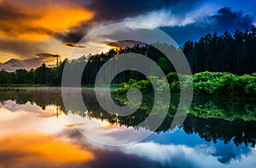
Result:
M235 75L251 74L256 71L256 31L255 27L251 31L236 31L234 35L224 32L219 35L215 32L202 36L199 41L187 41L183 48L175 48L166 43L158 42L158 48L168 49L172 55L178 54L181 50L188 59L192 73L203 71L230 72ZM79 59L67 60L59 64L58 67L48 68L42 64L37 69L15 70L15 72L0 71L0 84L43 84L48 86L60 86L61 76L65 64L71 64L76 67L86 62L82 77L82 84L94 84L97 72L109 59L117 59L121 53L140 53L153 59L161 70L167 75L175 69L172 63L166 59L164 53L152 45L135 45L130 48L110 49L107 53L96 53L94 55L82 56ZM120 68L122 64L117 67ZM151 67L146 67L148 71L154 72ZM105 76L109 76L105 72ZM138 73L136 70L127 70L120 73L113 79L113 83L129 81L129 79L143 80L146 76Z

